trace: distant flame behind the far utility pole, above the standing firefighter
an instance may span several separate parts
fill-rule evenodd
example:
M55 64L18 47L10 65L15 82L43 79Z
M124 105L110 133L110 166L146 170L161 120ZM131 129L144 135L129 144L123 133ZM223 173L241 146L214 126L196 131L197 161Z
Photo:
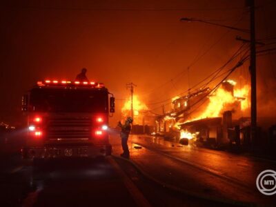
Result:
M145 103L139 100L137 95L133 95L133 119L135 124L143 124L143 115L141 113L143 110L148 110L148 107ZM124 103L123 108L121 108L121 112L124 119L131 116L131 98Z

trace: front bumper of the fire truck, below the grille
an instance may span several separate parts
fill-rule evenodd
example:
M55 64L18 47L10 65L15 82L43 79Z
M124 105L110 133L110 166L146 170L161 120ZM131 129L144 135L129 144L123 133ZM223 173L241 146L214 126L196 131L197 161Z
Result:
M42 146L22 148L24 159L61 157L99 157L111 155L112 146Z

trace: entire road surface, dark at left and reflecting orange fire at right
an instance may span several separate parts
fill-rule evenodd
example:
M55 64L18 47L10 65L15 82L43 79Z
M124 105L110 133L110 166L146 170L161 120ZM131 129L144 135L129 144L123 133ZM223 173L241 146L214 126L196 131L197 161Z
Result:
M32 166L20 155L1 156L0 206L239 206L276 203L259 193L257 174L275 162L131 136L130 160L113 156L59 159Z

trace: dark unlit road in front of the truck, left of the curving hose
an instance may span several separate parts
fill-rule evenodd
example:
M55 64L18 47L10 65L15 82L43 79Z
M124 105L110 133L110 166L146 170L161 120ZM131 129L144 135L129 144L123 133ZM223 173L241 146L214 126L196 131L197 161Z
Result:
M17 162L19 155L11 159L17 166L6 166L6 172L1 172L1 206L212 206L216 203L172 192L146 179L128 161L112 157L59 159L35 167L31 161Z

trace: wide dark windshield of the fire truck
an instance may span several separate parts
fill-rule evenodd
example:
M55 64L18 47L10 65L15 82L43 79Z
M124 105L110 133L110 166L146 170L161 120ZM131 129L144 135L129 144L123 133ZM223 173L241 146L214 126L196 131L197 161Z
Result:
M30 91L30 111L107 112L106 90L34 88Z

